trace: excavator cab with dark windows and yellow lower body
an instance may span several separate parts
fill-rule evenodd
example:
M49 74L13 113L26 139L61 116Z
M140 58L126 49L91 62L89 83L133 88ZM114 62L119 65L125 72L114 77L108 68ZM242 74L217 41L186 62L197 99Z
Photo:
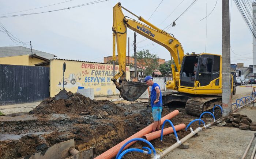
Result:
M195 68L196 63L197 67ZM179 90L184 91L185 88L188 88L193 94L207 94L207 91L214 89L221 91L220 66L220 55L202 53L184 56L180 76L181 89L179 88Z

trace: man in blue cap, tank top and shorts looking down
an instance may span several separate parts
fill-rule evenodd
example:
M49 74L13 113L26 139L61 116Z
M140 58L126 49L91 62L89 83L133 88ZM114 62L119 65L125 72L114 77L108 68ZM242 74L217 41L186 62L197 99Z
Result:
M150 104L152 107L152 116L154 119L152 132L155 132L160 130L161 112L163 110L162 93L160 86L153 82L153 77L146 76L144 82L146 82L148 86L151 86Z

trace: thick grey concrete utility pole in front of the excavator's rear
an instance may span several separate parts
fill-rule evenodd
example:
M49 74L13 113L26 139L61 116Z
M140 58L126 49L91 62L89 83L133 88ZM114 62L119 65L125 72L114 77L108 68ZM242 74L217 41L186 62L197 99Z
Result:
M222 0L222 107L231 112L229 0Z

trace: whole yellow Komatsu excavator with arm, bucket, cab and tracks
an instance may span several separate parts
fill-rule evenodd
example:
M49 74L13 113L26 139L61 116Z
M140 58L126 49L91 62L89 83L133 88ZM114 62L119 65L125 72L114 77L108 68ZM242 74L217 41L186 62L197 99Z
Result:
M122 8L141 22L124 16ZM200 115L211 109L215 104L221 105L222 94L222 56L210 53L184 55L181 43L173 34L167 33L151 24L141 16L137 16L117 3L113 7L113 65L116 60L115 44L117 44L119 72L111 79L120 96L125 100L138 99L147 89L146 83L131 82L125 78L127 28L165 47L176 64L172 63L173 80L166 82L166 88L173 89L171 93L163 94L163 104L179 101L186 103L186 112ZM143 23L142 23L143 22ZM171 61L173 61L171 60ZM194 68L195 64L197 67ZM113 67L114 68L114 67ZM117 82L117 80L119 81ZM230 75L231 91L233 92L233 77ZM234 91L235 92L235 91ZM234 93L233 92L233 93ZM215 94L215 95L213 95Z

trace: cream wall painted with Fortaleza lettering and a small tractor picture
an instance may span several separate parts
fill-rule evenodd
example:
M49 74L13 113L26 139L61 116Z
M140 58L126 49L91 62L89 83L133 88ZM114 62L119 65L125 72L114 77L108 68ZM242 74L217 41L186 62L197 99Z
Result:
M95 96L117 95L119 91L111 81L113 65L101 63L87 63L69 60L50 60L50 96L62 90L63 63L66 63L64 88L75 93L78 87L93 88ZM130 79L129 66L126 67L126 78ZM115 66L115 74L118 65Z

